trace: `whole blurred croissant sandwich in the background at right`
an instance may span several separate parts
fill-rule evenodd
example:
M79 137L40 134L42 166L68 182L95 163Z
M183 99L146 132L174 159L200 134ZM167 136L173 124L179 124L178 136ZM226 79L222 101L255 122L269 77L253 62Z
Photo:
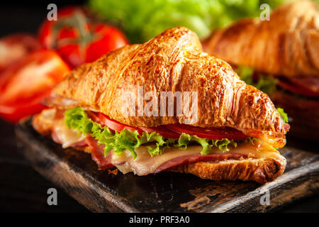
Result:
M229 62L289 115L291 133L319 139L319 12L313 1L275 9L269 21L245 18L214 31L204 51Z

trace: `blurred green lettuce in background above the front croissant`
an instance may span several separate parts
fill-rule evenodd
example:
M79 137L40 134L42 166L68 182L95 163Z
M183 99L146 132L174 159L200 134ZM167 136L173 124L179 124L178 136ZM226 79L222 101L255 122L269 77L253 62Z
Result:
M286 0L285 0L286 1ZM284 0L90 0L89 6L121 25L133 43L142 43L167 28L185 26L206 38L213 28L243 17L259 16L263 3L271 8Z

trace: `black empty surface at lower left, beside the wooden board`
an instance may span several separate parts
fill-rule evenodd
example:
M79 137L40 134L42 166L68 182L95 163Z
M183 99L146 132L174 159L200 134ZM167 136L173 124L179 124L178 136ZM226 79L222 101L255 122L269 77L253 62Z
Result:
M28 165L16 146L14 126L0 119L0 211L89 212L64 190ZM55 187L58 206L47 204L47 189ZM311 210L311 208L310 208Z

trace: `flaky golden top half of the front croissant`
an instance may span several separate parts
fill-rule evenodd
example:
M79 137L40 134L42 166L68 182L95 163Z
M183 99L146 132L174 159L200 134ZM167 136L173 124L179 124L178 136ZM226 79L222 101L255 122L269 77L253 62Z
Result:
M159 92L198 92L194 126L228 126L252 136L267 131L280 140L279 147L285 143L284 122L269 96L241 81L228 63L202 52L197 35L187 28L168 29L147 43L127 45L72 70L50 99L77 100L79 106L129 126L184 123L188 118L125 116L121 108L128 100L123 92L137 93L138 85L144 94L152 91L158 97Z

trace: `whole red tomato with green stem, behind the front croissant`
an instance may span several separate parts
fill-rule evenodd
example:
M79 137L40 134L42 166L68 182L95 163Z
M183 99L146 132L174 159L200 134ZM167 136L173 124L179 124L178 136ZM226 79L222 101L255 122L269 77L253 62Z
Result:
M46 48L55 49L72 67L93 62L111 50L128 44L117 28L90 21L79 6L57 12L57 21L45 20L39 38Z

